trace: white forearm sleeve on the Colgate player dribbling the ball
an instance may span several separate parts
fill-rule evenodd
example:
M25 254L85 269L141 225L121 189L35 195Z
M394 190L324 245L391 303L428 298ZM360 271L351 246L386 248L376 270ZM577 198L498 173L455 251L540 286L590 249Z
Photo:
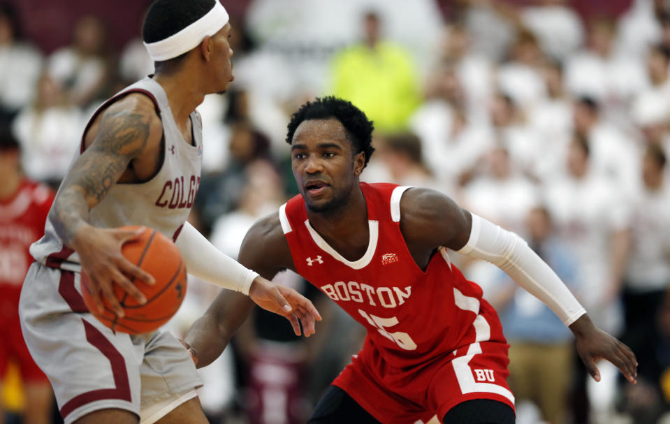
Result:
M189 274L249 295L249 287L258 277L258 272L245 268L238 261L221 253L194 226L184 223L176 244Z

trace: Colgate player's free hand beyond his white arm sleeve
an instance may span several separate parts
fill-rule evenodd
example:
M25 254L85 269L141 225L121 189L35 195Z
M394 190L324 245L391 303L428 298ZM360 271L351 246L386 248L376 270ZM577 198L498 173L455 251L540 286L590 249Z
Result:
M315 332L314 321L321 321L321 315L312 302L293 288L269 282L263 277L256 277L249 288L249 298L256 305L270 312L275 312L291 321L293 332L300 335L300 323L303 324L305 337ZM300 320L300 323L298 323Z

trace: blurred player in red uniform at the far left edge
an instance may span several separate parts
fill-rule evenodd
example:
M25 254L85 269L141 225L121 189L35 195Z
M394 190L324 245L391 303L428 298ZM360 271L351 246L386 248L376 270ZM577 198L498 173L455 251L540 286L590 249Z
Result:
M54 193L44 184L25 178L20 170L20 147L9 129L0 129L0 386L9 361L18 365L25 404L25 423L49 423L53 394L23 341L19 297L33 258L30 244L44 233L44 222ZM0 423L2 408L0 407Z

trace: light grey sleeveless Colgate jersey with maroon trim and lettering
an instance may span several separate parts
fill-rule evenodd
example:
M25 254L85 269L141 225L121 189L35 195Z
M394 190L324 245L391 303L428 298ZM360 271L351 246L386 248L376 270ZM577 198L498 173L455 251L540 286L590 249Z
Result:
M88 221L101 228L148 226L176 240L189 216L200 185L203 129L198 112L191 113L194 145L190 145L177 128L163 88L147 77L103 103L89 120L84 134L101 111L120 97L133 92L146 94L156 105L156 112L163 122L163 164L159 172L147 182L114 184L105 198L92 208ZM78 154L83 149L82 137L82 147ZM50 219L46 221L44 237L32 244L30 253L36 261L50 267L77 272L81 268L78 255L63 243Z

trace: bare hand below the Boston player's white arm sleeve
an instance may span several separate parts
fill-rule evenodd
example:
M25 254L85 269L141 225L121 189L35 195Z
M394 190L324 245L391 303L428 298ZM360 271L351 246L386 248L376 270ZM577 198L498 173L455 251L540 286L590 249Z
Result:
M572 323L570 330L576 337L577 353L595 381L600 381L596 362L606 359L616 365L628 381L637 383L637 360L628 346L594 326L586 314Z

